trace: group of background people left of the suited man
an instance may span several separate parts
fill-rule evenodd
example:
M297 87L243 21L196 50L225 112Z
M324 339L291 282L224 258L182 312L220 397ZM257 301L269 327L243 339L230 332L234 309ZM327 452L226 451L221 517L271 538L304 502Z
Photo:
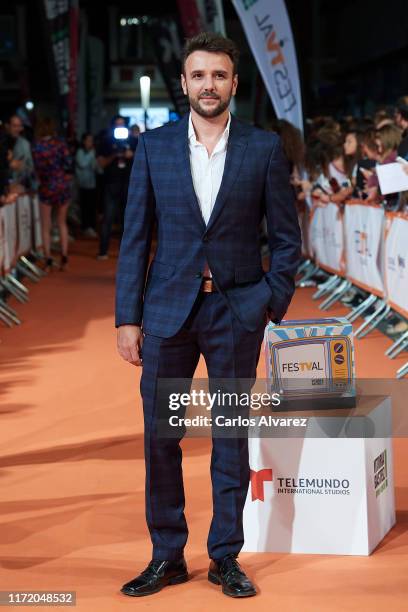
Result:
M68 264L70 236L80 231L99 238L99 260L108 258L114 223L123 227L126 191L137 146L139 128L113 117L96 138L83 134L81 141L58 134L51 117L40 117L34 130L17 113L0 128L0 206L24 193L38 194L45 268L55 265L51 253L52 231L58 229L61 270ZM124 128L117 133L116 128ZM75 206L76 205L76 206ZM69 211L78 210L78 214ZM70 226L70 227L69 227Z

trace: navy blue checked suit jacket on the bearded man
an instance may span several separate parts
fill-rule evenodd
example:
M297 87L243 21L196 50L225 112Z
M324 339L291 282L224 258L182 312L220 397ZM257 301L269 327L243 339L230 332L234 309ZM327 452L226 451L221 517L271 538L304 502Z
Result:
M266 273L259 229L264 214L271 253ZM155 223L157 252L146 280ZM236 317L255 331L268 309L276 321L284 316L299 258L294 193L276 134L231 118L224 174L207 226L191 177L188 115L140 136L117 270L117 327L143 324L148 334L176 334L207 261Z

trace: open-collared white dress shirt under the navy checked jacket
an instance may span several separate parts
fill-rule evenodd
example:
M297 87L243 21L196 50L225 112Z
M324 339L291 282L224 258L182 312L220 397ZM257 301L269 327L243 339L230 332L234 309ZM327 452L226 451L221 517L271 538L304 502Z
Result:
M231 115L228 117L227 127L217 142L213 152L208 156L207 149L197 140L191 113L188 119L188 143L190 148L190 167L194 190L200 205L201 214L205 224L211 216L215 200L221 186L224 174L225 157L227 155L228 136L231 124Z

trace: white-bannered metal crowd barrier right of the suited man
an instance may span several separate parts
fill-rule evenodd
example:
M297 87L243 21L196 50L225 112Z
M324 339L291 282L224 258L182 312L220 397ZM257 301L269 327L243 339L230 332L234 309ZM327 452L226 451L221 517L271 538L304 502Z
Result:
M346 317L351 322L364 319L356 337L364 338L378 329L390 314L408 319L408 213L386 212L364 200L343 205L330 202L311 213L300 213L300 225L304 261L296 286L316 285L313 299L323 300L320 310L328 310L353 289L361 302ZM320 282L313 281L316 276ZM394 359L406 349L408 331L385 354ZM407 373L408 362L396 376Z

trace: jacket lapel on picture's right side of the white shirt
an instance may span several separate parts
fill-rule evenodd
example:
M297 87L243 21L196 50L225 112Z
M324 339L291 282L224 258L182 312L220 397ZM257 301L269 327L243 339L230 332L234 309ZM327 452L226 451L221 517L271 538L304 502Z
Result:
M225 204L227 196L238 177L246 147L247 139L245 136L245 128L243 124L235 119L233 115L231 115L231 125L228 137L224 173L222 175L221 186L214 203L214 208L208 221L207 231L212 227L212 225L214 225Z

